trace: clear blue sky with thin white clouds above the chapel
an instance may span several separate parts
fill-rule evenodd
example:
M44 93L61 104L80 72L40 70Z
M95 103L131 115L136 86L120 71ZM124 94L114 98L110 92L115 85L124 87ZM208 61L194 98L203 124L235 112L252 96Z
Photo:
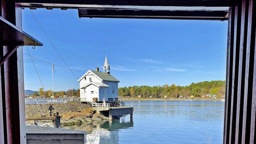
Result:
M119 87L190 85L225 80L227 21L79 18L77 10L32 10L70 69L102 67L105 51ZM66 67L29 9L22 10L23 30L43 43L32 56ZM28 54L26 47L24 53ZM33 59L45 89L51 87L51 65ZM84 73L75 72L80 78ZM29 56L24 55L25 89L41 83ZM54 91L78 89L77 78L55 66Z

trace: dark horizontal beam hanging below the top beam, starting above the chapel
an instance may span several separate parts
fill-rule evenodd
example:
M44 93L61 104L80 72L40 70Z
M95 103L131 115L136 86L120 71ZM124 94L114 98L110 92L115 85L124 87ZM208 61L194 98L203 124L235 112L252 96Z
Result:
M79 17L89 18L141 18L141 19L200 19L227 20L226 11L169 11L169 10L123 10L78 9Z

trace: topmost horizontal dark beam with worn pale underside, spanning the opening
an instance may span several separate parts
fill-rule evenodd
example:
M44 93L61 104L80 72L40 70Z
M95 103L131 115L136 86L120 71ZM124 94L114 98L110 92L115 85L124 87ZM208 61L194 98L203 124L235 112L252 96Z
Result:
M79 7L78 5L119 5L119 6L209 6L230 7L234 0L16 0L22 6L30 5L34 8L48 7Z

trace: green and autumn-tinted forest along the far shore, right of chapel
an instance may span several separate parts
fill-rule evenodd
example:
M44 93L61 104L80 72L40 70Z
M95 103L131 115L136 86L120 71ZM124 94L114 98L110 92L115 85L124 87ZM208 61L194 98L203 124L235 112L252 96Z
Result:
M163 86L129 86L129 87L119 87L118 95L125 97L130 95L131 97L164 97L178 98L179 95L195 97L204 96L206 94L211 95L225 95L225 81L204 81L198 83L191 83L189 86L176 86L163 85Z

